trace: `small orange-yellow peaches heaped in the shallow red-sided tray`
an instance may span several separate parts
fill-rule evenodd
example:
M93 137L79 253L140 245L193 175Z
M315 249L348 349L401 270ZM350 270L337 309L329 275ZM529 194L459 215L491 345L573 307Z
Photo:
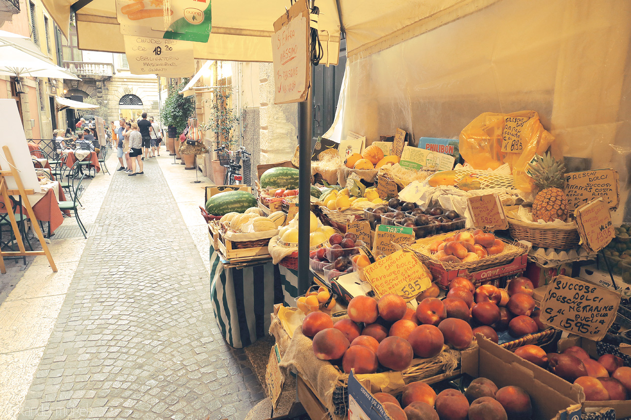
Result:
M504 242L495 238L493 233L481 229L471 232L459 232L449 238L438 239L430 244L432 257L441 262L477 261L488 255L501 254Z

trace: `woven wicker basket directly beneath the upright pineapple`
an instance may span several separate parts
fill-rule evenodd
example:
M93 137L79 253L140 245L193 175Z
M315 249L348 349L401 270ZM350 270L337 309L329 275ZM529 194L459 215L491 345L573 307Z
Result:
M579 231L576 224L567 227L545 226L541 223L528 223L507 218L510 236L516 240L526 240L535 247L568 249L579 245Z

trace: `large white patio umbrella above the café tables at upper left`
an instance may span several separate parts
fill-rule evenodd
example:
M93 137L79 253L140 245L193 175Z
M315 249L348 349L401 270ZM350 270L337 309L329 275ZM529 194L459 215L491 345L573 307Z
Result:
M0 31L0 76L81 80L44 55L32 40Z

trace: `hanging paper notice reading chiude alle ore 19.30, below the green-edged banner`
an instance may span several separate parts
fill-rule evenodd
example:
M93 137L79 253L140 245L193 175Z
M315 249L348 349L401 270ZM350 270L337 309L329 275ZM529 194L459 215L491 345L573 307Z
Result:
M125 35L125 54L132 74L158 74L175 78L195 73L193 47L172 39Z

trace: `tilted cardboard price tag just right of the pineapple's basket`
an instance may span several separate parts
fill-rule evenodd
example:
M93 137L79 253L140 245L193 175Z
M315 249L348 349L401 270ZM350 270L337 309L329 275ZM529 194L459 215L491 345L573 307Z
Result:
M611 214L602 197L577 208L574 216L583 248L587 252L598 252L614 238Z

